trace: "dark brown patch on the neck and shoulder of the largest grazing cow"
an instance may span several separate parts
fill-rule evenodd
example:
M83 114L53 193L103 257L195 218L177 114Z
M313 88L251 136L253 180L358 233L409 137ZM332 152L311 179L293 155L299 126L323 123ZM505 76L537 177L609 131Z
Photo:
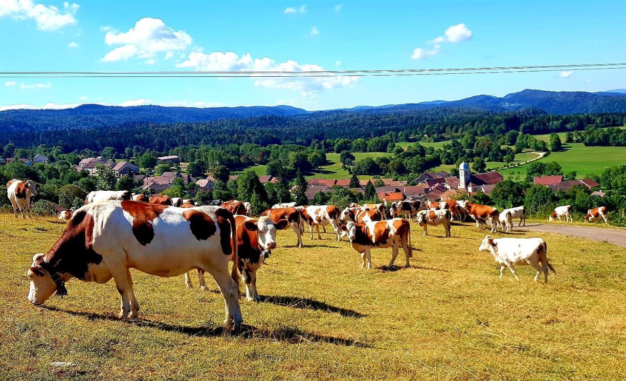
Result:
M37 264L46 262L46 268L54 272L70 273L85 280L90 263L98 265L102 256L93 250L93 216L86 210L78 210L69 220L61 237L48 253L38 259Z

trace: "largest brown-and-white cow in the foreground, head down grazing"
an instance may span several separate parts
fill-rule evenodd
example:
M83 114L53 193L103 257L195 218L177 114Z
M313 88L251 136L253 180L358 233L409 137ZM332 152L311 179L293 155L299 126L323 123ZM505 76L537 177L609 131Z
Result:
M46 253L33 257L28 270L34 305L76 277L106 283L111 278L121 295L120 317L136 317L130 268L158 277L175 277L199 268L215 278L226 306L225 323L242 322L237 268L228 272L230 258L239 261L232 213L217 206L191 210L137 201L101 201L76 210L61 238ZM176 239L172 239L175 237Z

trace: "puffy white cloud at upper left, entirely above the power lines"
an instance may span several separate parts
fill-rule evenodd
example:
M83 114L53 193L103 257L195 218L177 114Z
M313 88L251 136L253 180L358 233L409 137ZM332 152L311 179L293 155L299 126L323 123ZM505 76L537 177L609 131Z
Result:
M162 19L143 18L126 32L108 30L105 35L107 45L121 45L106 53L102 61L120 61L133 56L155 58L156 53L185 50L192 43L192 37L185 31L175 31L163 23Z

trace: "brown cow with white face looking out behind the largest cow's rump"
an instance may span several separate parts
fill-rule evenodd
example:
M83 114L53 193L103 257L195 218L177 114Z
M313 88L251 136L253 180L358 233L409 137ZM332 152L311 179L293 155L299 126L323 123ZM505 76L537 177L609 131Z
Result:
M239 260L235 261L239 269L239 275L245 284L245 295L250 302L259 302L261 297L257 292L257 270L268 258L272 249L276 248L276 230L282 230L287 226L287 220L279 220L274 223L268 216L261 216L259 221L248 216L235 216L237 225L237 251ZM204 272L198 268L198 282L202 290L208 290L204 282ZM185 283L192 288L189 273L185 273Z

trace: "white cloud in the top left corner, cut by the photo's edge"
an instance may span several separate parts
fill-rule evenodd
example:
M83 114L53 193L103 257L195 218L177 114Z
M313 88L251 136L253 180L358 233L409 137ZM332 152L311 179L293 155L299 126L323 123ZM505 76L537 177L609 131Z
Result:
M34 3L32 0L0 0L0 17L14 19L34 19L37 29L54 31L67 25L76 24L74 14L80 6L76 3L63 3L64 12L55 6Z

